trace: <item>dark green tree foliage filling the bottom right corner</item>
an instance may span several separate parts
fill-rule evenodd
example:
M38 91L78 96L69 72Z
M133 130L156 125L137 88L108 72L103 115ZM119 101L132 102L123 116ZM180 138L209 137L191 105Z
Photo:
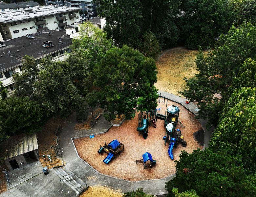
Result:
M199 196L255 196L256 176L246 175L242 160L223 152L182 151L176 163L176 176L166 183L169 196L178 188L181 192L194 189ZM190 169L184 173L184 169Z

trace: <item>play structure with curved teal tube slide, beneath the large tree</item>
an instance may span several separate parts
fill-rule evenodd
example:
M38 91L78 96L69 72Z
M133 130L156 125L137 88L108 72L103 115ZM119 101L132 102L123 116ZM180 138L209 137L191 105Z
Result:
M155 117L156 116L156 111L155 110L148 110L148 111L142 111L139 113L139 127L137 127L137 131L142 133L142 136L144 139L147 139L148 137L148 125L150 123L153 123L154 128L156 128L156 123L155 123Z

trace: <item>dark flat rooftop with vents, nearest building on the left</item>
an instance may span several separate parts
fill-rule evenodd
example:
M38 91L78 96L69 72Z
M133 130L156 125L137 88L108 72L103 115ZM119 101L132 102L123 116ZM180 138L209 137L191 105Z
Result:
M3 41L6 46L0 47L0 73L15 68L21 64L25 55L40 59L45 55L50 55L72 44L72 39L64 31L44 30L31 34L33 39L22 36L11 40ZM61 38L62 42L59 42ZM43 42L52 41L52 47L42 47ZM11 53L8 53L8 52ZM1 57L2 56L2 57Z

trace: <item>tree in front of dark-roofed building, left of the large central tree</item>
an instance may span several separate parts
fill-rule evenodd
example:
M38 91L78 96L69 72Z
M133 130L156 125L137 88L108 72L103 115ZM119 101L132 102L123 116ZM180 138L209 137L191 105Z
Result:
M64 69L66 62L46 61L35 82L35 94L47 116L68 116L75 110L80 98L69 73Z

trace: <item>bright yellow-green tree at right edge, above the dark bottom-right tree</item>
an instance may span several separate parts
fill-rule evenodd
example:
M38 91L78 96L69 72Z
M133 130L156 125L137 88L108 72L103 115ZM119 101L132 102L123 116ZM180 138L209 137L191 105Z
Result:
M256 88L241 88L233 92L220 116L210 147L231 155L241 155L245 169L252 173L256 164ZM246 153L246 154L245 154Z

